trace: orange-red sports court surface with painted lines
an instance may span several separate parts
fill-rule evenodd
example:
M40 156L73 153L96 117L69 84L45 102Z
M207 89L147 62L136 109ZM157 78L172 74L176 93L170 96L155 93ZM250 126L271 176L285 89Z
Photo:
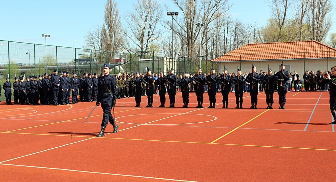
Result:
M64 106L0 104L0 181L335 181L335 129L328 92L287 93L285 110L244 109L229 95L229 109L140 108L117 100L118 133L100 131L94 102ZM168 94L166 99L169 104ZM167 103L166 103L167 106ZM204 107L209 106L204 93Z

